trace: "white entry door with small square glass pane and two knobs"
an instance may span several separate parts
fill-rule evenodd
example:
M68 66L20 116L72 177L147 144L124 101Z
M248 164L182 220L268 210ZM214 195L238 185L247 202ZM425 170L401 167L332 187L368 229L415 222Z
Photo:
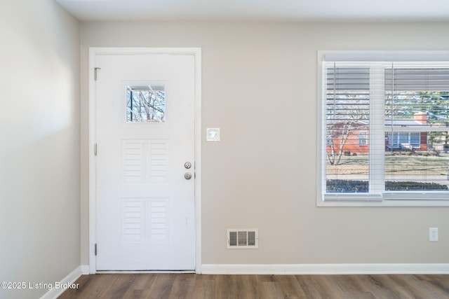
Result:
M194 55L96 55L96 270L194 270Z

